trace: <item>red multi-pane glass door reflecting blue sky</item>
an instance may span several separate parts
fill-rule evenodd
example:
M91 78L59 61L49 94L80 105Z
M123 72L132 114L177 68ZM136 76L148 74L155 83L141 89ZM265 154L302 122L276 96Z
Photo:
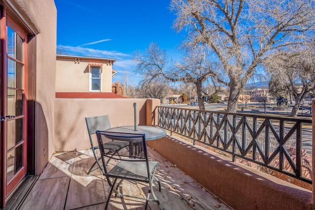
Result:
M26 145L26 39L27 35L10 18L7 19L6 46L6 195L27 172ZM4 78L5 79L5 78ZM5 91L5 90L4 90Z

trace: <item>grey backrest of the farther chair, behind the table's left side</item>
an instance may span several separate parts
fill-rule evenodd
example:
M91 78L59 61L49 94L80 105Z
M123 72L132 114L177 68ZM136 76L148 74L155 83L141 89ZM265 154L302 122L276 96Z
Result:
M87 123L90 142L91 142L91 146L93 148L94 146L93 146L93 141L92 141L91 135L95 134L96 130L109 129L110 128L109 117L108 117L108 115L96 116L96 117L91 117L91 118L85 118L85 121Z

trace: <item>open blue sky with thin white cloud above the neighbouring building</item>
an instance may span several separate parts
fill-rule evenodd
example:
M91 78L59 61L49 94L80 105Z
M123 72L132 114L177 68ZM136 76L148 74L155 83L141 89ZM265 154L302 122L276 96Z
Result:
M137 84L132 58L151 42L178 57L177 46L184 39L172 29L175 15L170 0L55 0L57 7L57 47L69 55L116 59L118 73L113 82Z

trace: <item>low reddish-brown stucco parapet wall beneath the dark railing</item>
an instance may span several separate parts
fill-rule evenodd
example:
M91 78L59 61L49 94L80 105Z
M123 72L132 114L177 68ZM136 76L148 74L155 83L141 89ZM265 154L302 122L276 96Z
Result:
M310 210L312 192L166 136L148 145L235 210Z

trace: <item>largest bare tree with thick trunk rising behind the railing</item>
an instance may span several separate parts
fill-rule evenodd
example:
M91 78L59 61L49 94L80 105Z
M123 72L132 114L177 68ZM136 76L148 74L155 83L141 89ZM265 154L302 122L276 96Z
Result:
M315 36L315 0L172 0L174 28L188 31L183 45L211 49L224 74L214 78L229 87L227 112L272 51Z

